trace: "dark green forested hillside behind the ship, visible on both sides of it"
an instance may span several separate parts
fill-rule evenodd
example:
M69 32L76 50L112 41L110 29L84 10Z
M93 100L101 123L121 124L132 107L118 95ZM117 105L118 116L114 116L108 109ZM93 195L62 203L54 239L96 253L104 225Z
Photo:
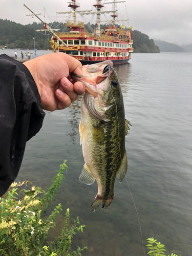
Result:
M54 22L53 24L48 24L52 28L60 29L60 32L68 31L66 24L59 24ZM95 28L95 25L87 24L85 25L88 32L92 32ZM101 26L101 29L104 29L105 25ZM120 28L120 26L117 25ZM33 23L29 25L22 25L15 22L10 22L10 20L0 19L0 48L5 46L8 49L34 49L34 40L35 37L35 47L38 50L41 49L51 49L48 42L48 36L40 34L35 31L35 29L43 29L44 26L42 23ZM90 31L90 29L92 31ZM155 45L153 39L137 30L132 31L133 33L133 47L134 52L159 52L159 48ZM51 35L49 35L49 40Z

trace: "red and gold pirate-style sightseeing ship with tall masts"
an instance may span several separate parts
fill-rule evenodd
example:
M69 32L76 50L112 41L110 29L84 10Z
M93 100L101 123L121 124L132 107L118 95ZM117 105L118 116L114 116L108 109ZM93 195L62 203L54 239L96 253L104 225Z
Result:
M51 31L51 28L44 23L44 28L52 32L53 36L50 40L52 50L54 52L64 52L72 57L81 61L82 65L97 63L104 60L112 60L114 65L121 65L127 63L131 59L131 53L133 52L133 40L132 40L132 27L129 29L117 28L116 22L122 21L116 19L117 10L115 10L116 3L123 3L125 1L105 2L105 4L113 4L113 10L101 11L104 7L101 4L101 0L96 1L96 11L79 11L79 5L76 4L76 0L72 0L68 7L72 9L70 12L58 12L58 14L72 13L73 20L67 21L67 28L69 32L56 32ZM84 27L83 22L76 20L76 13L80 15L96 14L96 24L93 33L89 33ZM102 22L112 24L111 26L100 29L101 14L112 13L112 20L102 20ZM124 19L123 19L124 20ZM127 20L127 19L126 19Z

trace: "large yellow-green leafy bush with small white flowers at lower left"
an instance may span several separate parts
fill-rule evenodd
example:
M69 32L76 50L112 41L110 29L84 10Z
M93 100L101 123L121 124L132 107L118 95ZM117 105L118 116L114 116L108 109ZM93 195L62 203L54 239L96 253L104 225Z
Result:
M82 249L78 247L77 251L68 253L73 236L77 231L82 232L84 227L80 225L78 217L74 221L74 225L71 228L68 227L69 209L66 211L60 236L54 238L49 246L45 245L48 230L56 226L54 220L62 207L61 204L58 204L45 221L41 219L41 212L45 212L49 203L56 196L57 190L65 178L63 170L67 171L66 161L60 165L60 170L56 171L58 174L54 177L47 193L40 187L32 186L31 190L19 191L19 196L22 193L25 193L25 196L18 199L18 188L15 187L30 182L14 182L9 188L7 197L4 195L0 198L0 254L2 253L3 256L80 256L81 252L87 249L87 247ZM43 194L42 198L38 194Z

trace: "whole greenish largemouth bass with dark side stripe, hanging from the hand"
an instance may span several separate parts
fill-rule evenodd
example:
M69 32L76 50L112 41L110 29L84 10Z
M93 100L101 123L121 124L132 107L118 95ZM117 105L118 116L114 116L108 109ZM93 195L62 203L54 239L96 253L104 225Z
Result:
M123 96L113 62L86 65L82 71L83 76L71 74L73 80L86 86L79 124L84 157L79 181L88 185L97 181L98 193L91 205L91 211L95 211L101 201L105 209L111 204L115 177L121 183L126 174L125 136L130 122L125 120Z

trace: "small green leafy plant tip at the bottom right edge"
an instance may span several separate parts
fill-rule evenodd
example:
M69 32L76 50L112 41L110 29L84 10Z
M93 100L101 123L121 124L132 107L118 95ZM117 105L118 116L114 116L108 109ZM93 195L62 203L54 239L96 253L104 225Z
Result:
M160 242L157 242L154 238L147 238L148 244L146 245L147 249L150 251L147 252L147 254L150 254L150 256L165 256L164 251L165 246L164 244L161 244ZM154 243L156 244L154 246ZM168 256L177 256L175 253L172 253Z

